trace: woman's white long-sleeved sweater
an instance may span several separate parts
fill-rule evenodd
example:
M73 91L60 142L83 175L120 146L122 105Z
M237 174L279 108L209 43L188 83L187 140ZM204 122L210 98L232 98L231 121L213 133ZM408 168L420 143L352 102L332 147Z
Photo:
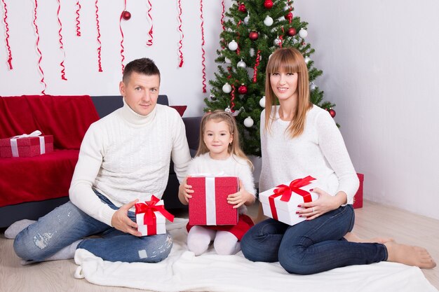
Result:
M292 139L286 132L290 122L279 118L278 109L279 106L272 107L274 120L269 132L265 130L265 110L261 113L259 191L310 175L330 195L344 191L347 203L352 204L358 176L334 119L324 109L313 106L306 113L304 132Z

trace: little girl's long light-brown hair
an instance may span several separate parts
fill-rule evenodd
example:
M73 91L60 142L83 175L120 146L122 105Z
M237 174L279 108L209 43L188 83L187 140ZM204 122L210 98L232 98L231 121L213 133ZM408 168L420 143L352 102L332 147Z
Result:
M209 148L204 143L203 137L205 132L205 124L208 123L208 121L210 120L214 120L216 123L225 122L227 124L227 126L229 127L229 132L233 137L233 140L229 144L229 148L227 148L227 153L231 153L232 155L236 155L239 158L243 158L248 162L248 165L250 165L250 168L253 170L252 162L250 161L250 159L248 159L247 155L245 155L239 144L239 131L238 126L236 125L235 118L231 116L230 113L227 113L227 111L222 111L220 109L205 113L203 118L201 118L200 141L198 143L198 150L196 151L195 155L199 156L201 154L209 152Z

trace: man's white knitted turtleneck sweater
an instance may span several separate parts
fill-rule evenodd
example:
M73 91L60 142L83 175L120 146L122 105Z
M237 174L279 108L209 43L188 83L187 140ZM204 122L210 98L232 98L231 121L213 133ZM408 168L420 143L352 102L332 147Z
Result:
M70 200L89 216L111 225L117 207L135 199L161 198L168 183L170 159L180 181L191 161L184 123L175 109L156 104L141 116L123 107L90 125L79 151L69 189ZM177 194L175 194L177 195Z

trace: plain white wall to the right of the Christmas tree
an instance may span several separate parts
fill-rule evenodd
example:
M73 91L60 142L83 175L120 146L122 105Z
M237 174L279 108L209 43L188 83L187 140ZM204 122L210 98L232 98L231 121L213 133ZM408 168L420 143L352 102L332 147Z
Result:
M439 218L439 2L295 1L364 196Z

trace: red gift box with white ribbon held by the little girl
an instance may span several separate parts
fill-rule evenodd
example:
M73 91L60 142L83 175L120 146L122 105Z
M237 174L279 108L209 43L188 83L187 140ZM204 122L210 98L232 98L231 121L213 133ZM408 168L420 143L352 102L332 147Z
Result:
M192 186L189 199L190 225L236 225L238 208L227 202L227 196L238 192L236 176L191 176L187 184Z

